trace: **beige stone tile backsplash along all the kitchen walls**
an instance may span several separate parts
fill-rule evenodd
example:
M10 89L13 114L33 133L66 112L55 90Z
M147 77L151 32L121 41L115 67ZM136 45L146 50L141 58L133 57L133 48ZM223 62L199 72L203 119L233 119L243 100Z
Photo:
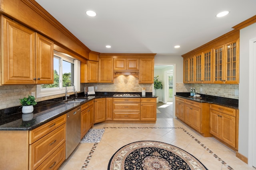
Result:
M114 83L82 83L80 92L84 91L84 86L97 86L96 92L141 92L146 88L146 92L153 92L153 84L139 84L138 78L134 76L118 76L114 78ZM238 84L183 84L176 83L176 92L190 92L190 88L196 88L198 93L212 96L238 99L235 90ZM202 92L200 92L200 87ZM36 92L36 85L10 85L0 86L0 109L20 106L20 98ZM48 97L37 98L38 102L59 98L65 94L58 94Z

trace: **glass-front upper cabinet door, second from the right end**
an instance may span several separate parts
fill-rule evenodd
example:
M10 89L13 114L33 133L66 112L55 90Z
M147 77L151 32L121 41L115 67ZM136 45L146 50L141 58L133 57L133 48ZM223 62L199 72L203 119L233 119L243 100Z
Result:
M224 82L223 45L213 49L213 83Z

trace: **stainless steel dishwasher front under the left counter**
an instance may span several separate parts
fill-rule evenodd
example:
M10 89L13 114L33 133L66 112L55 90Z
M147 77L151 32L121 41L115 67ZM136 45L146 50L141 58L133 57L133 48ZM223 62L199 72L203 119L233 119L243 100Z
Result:
M80 143L81 136L81 107L66 113L66 159Z

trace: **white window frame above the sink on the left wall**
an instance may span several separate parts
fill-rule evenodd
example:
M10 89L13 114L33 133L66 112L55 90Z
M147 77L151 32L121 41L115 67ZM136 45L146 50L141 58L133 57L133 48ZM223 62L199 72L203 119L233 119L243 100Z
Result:
M59 75L62 75L62 61L67 61L74 64L74 86L77 92L80 92L80 61L77 59L74 59L74 57L65 54L60 53L58 51L54 51L54 57L59 58L61 62L59 63ZM64 94L65 96L65 87L62 87L62 76L60 76L59 79L59 86L58 88L46 88L42 89L41 84L36 85L36 98L46 97L46 96L52 96L52 95L58 95L58 94ZM74 86L68 86L68 90L73 90Z

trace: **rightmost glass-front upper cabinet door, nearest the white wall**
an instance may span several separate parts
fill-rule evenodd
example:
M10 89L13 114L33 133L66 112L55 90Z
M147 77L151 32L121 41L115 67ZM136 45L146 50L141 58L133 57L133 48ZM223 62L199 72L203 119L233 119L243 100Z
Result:
M238 41L226 44L226 83L239 83Z

